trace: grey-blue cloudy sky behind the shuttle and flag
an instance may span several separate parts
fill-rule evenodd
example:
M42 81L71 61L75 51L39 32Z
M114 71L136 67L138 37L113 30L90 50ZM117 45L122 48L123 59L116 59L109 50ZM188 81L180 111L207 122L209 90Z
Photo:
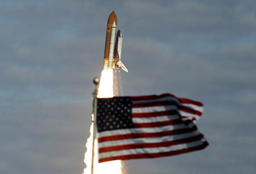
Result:
M0 173L82 173L106 24L124 96L204 103L203 151L123 161L126 174L256 173L256 1L0 0Z

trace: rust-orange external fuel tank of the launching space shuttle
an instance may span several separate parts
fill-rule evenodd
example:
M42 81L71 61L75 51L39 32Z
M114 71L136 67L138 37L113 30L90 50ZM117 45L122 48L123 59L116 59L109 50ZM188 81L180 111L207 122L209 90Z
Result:
M115 22L115 28L116 28L117 27L117 16L115 15L114 11L112 11L112 13L109 15L107 29L106 29L106 42L105 42L105 51L104 51L104 69L108 69L109 52L110 52L110 37L112 36L111 32L112 32L112 26L113 26L114 22ZM115 38L115 32L114 32L114 38ZM112 55L112 60L113 60L113 55Z

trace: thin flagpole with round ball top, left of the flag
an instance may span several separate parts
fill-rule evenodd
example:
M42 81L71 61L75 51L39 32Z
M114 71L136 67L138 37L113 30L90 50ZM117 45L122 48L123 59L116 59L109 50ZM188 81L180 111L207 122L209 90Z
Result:
M93 174L94 169L94 143L96 139L96 131L97 131L97 123L96 123L96 116L97 116L97 95L98 95L98 84L100 83L100 80L96 77L93 79L93 83L95 85L94 92L92 93L93 97L93 143L92 143L92 166L91 166L91 174Z

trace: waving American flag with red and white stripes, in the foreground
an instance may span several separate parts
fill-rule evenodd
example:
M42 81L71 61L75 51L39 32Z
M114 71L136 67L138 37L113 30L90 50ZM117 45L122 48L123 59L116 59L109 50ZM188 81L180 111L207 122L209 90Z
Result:
M99 162L158 158L208 146L197 130L201 102L160 96L98 98Z

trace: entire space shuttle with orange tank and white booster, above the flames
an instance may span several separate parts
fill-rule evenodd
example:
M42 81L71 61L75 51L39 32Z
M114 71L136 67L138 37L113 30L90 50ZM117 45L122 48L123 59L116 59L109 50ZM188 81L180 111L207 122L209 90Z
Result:
M104 69L119 69L122 68L128 72L128 69L121 61L122 41L123 37L120 30L117 31L117 37L115 38L115 32L117 30L117 16L114 11L109 15L107 30L106 30L106 42L104 52Z

